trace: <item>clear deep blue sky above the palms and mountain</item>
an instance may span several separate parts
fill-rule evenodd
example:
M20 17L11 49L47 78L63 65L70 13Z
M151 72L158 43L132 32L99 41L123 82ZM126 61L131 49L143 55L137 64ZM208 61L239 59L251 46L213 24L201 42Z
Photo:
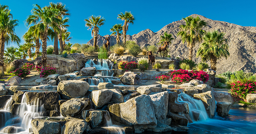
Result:
M85 18L91 15L104 17L105 25L101 26L99 31L99 34L104 36L111 34L109 29L116 23L123 24L123 21L117 20L117 16L125 11L130 11L135 17L134 24L129 25L127 32L129 35L137 34L145 29L157 32L165 25L191 14L199 14L212 20L241 26L256 26L256 1L250 0L198 0L196 2L194 0L1 0L0 4L8 5L13 18L19 20L19 26L15 31L22 38L28 29L24 21L28 15L31 15L33 4L44 7L50 2L62 2L69 8L71 16L68 31L73 37L71 43L87 43L92 38L91 31L85 27ZM23 40L22 43L24 43ZM47 44L53 45L51 41ZM9 45L16 46L14 43Z

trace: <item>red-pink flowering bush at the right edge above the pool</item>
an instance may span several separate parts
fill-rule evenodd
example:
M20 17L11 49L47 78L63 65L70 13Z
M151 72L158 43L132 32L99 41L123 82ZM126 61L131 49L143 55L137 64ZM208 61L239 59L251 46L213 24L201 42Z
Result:
M247 94L256 94L256 82L253 80L243 79L231 83L231 89L229 91L233 96L246 99Z

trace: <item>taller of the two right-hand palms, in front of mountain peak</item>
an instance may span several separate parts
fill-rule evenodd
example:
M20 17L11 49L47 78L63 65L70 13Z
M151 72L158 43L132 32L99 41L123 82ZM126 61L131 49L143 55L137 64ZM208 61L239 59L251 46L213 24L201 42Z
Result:
M181 37L183 43L187 42L189 49L188 59L192 60L193 47L196 42L201 42L202 35L205 33L202 28L203 26L206 26L207 23L204 20L201 20L198 16L196 18L188 16L183 19L186 24L179 26L180 31L177 35Z

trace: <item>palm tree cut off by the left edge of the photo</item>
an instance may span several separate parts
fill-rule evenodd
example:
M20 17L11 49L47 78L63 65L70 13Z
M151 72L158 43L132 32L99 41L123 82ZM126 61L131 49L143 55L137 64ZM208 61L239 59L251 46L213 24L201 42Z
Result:
M13 20L8 6L0 6L0 67L4 65L5 44L10 42L20 43L20 38L15 33L15 27L18 26L18 22L16 19Z

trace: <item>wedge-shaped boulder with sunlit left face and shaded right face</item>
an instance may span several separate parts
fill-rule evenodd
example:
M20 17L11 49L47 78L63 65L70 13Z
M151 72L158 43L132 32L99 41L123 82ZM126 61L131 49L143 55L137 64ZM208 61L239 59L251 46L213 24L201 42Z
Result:
M109 89L94 90L91 92L91 99L96 108L107 104L112 98L113 91Z

